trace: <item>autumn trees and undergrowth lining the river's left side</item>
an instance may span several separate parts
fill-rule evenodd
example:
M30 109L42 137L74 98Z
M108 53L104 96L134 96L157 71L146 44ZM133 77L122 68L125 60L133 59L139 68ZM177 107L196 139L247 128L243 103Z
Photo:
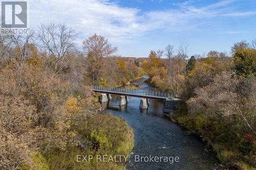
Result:
M137 77L139 68L135 63L120 66L117 48L97 34L79 50L77 36L55 23L26 35L0 35L0 169L124 167L124 160L75 159L129 155L132 129L121 118L99 114L102 108L90 85L121 85ZM127 74L132 67L134 74Z

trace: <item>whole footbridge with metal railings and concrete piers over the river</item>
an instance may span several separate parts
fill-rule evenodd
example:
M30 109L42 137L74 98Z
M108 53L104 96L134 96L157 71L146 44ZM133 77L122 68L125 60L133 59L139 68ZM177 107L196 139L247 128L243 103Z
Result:
M162 100L165 103L164 110L169 112L170 106L173 107L173 101L175 101L175 93L167 93L162 91L151 91L144 89L126 89L119 87L101 87L93 86L92 90L100 95L100 101L102 103L111 100L111 94L121 95L119 105L125 105L128 102L127 96L133 96L136 98L142 98L140 101L140 108L147 109L149 102L148 99Z

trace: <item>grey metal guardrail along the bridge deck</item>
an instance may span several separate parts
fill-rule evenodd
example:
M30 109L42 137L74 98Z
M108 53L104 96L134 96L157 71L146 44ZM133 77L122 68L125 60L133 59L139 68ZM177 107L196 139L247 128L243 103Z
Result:
M140 95L145 97L154 97L154 98L175 98L174 93L166 93L162 91L150 91L143 89L126 89L126 88L118 88L118 87L101 87L101 86L93 86L93 90L101 91L101 92L116 92L121 94L131 94L131 95Z

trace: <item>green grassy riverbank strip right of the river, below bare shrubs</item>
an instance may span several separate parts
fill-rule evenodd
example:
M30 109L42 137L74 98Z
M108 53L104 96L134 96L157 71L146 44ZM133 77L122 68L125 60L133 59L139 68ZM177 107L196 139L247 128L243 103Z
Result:
M206 119L201 114L191 119L188 114L184 113L186 111L184 102L181 101L179 105L178 110L170 115L170 117L191 133L199 136L203 142L207 142L215 152L216 158L221 162L220 166L223 169L255 169L255 166L253 166L253 164L255 164L255 162L253 163L253 159L255 158L246 157L242 154L242 151L239 150L240 145L243 145L244 142L239 135L230 135L230 133L233 132L227 125L218 124L213 120ZM218 138L223 139L216 140ZM241 141L239 145L237 145L238 140ZM251 139L248 138L247 140L248 142L245 142L249 144ZM230 145L230 143L233 143L233 145ZM237 145L237 149L234 149L234 145ZM247 147L249 147L249 145L245 145L244 149Z

